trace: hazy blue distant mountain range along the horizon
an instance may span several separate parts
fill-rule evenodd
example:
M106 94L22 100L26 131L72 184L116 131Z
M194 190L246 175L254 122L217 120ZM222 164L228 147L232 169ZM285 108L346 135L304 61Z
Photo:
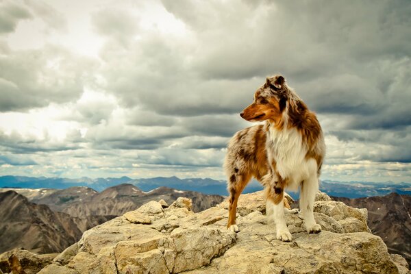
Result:
M201 192L208 195L227 196L227 185L224 180L210 178L179 179L178 177L153 177L147 179L120 178L97 178L87 177L79 179L47 178L47 177L24 177L24 176L2 176L0 177L1 188L56 188L64 189L74 186L86 186L99 192L119 184L132 184L143 192L149 192L160 186ZM401 195L411 195L411 183L373 183L373 182L332 182L322 181L320 189L328 195L335 197L360 198L372 196L385 196L391 192ZM262 190L262 186L252 181L244 193ZM290 193L297 199L297 193Z

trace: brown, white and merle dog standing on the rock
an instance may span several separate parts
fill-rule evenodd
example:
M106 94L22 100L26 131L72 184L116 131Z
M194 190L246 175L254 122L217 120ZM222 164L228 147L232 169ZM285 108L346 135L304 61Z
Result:
M265 121L237 132L230 140L224 169L228 177L228 229L238 232L238 197L255 177L265 188L266 212L273 212L277 239L292 240L284 216L284 189L298 190L300 212L308 233L321 232L313 207L325 142L319 121L287 84L284 77L268 77L254 101L240 116L250 122Z

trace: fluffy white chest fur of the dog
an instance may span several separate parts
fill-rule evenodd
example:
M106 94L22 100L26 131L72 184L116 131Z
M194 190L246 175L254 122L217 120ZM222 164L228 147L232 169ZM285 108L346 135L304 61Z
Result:
M304 179L316 173L316 162L306 159L307 147L301 134L295 128L278 131L269 127L267 137L269 160L275 160L277 173L288 179L287 188L297 190Z

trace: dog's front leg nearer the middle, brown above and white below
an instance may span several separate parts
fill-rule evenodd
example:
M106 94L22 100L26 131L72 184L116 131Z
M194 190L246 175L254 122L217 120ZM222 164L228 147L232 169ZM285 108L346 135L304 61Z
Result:
M286 217L284 214L284 179L278 176L266 175L265 179L271 177L271 182L265 181L266 184L266 214L275 221L277 231L277 240L290 242L292 236L287 228Z

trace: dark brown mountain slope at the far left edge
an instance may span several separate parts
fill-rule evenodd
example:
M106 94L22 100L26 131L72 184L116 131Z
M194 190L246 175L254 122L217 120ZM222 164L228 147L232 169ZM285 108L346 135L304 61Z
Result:
M69 214L30 203L12 190L0 193L0 216L0 253L14 247L61 252L82 236Z

